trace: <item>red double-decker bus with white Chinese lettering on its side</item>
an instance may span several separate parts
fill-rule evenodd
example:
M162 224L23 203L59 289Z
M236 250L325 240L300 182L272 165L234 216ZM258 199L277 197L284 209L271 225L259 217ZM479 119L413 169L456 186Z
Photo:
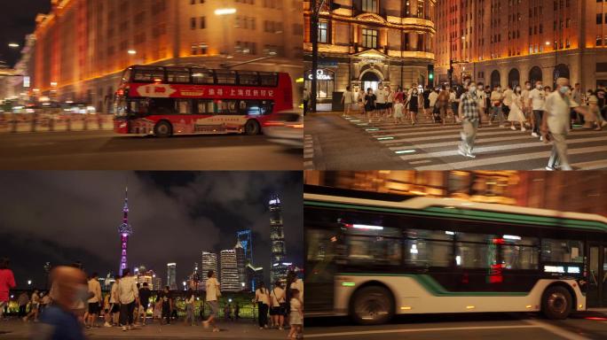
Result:
M130 66L115 95L114 131L257 135L272 113L292 108L288 73Z

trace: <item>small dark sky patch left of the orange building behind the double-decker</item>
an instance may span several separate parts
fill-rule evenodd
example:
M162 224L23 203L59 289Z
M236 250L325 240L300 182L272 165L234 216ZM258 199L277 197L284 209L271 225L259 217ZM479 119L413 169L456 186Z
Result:
M8 44L17 42L23 47L25 36L34 33L36 14L50 12L51 0L2 0L0 4L0 60L14 66L21 48L11 49Z

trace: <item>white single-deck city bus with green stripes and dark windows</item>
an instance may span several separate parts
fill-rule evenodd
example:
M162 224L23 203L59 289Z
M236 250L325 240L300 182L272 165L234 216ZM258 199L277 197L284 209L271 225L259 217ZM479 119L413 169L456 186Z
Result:
M307 317L607 306L607 218L306 186Z

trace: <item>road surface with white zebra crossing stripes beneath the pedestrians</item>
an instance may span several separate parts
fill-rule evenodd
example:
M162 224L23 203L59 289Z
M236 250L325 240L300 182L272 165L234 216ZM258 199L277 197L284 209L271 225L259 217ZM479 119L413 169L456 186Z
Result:
M422 119L422 116L420 115ZM477 133L477 158L458 154L461 124L446 126L368 122L359 114L321 112L306 117L305 168L317 170L544 170L550 143L522 132L484 125ZM508 126L509 127L509 126ZM567 136L568 154L575 169L607 169L607 128L576 127Z

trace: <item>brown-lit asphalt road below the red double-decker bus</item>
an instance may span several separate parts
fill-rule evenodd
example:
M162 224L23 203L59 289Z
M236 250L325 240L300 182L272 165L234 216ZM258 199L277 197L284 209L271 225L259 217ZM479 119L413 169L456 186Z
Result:
M2 170L302 170L302 159L301 149L271 143L264 135L0 135Z

